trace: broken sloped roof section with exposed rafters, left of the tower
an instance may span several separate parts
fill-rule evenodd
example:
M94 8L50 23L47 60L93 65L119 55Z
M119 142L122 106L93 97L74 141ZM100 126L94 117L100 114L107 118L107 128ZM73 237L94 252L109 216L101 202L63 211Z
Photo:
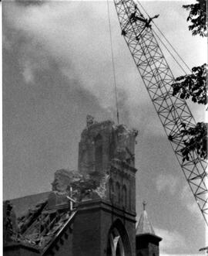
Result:
M12 241L43 253L74 217L75 209L70 210L69 203L64 200L55 205L45 200L18 217L18 231L12 234Z

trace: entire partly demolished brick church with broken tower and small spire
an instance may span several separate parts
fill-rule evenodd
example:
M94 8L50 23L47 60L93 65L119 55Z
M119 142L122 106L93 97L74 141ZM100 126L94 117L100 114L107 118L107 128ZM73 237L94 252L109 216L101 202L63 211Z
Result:
M4 202L4 255L158 256L145 202L136 227L137 134L88 116L78 171L56 171L52 191L29 196L28 209L25 198Z

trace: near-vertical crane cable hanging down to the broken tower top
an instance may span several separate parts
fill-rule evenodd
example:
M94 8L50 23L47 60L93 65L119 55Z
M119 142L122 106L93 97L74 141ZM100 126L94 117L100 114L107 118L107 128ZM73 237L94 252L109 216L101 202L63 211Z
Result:
M117 122L119 125L119 108L118 108L118 97L117 97L117 87L116 87L115 63L114 63L114 56L113 56L113 50L112 50L112 32L111 32L111 22L110 22L110 12L109 12L109 0L107 0L107 5L108 5L108 18L109 18L110 48L111 48L111 57L112 57L112 73L113 73L115 98L116 98L116 116L117 116Z

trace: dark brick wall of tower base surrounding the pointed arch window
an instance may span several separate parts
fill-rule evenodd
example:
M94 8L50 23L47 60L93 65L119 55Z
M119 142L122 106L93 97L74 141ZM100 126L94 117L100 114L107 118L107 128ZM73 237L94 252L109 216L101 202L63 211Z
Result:
M73 227L73 256L106 256L109 230L118 220L129 242L131 254L126 255L135 256L135 215L112 207L103 200L81 203Z

